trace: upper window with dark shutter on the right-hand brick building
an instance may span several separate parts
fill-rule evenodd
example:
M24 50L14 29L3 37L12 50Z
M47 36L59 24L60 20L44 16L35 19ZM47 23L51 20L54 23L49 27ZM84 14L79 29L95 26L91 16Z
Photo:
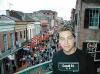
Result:
M100 9L86 9L84 28L99 29L100 28Z

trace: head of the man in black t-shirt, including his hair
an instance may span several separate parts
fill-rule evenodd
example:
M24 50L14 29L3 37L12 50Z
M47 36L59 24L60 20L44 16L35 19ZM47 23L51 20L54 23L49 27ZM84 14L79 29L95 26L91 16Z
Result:
M59 43L65 52L72 52L75 49L75 35L72 28L64 26L59 30Z

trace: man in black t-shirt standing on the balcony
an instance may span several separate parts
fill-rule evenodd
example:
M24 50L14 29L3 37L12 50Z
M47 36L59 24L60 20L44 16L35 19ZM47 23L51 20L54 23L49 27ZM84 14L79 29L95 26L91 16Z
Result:
M53 74L96 74L92 58L75 47L72 29L63 27L59 30L59 43L63 50L53 55Z

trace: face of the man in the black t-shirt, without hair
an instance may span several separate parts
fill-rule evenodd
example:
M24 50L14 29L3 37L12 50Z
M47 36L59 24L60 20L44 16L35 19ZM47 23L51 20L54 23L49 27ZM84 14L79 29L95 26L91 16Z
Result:
M74 48L75 38L71 31L62 31L59 33L59 43L64 51L70 52Z

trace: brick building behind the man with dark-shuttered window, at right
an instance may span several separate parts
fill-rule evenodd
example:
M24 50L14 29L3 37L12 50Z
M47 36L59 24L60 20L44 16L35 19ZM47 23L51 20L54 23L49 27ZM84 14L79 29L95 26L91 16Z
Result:
M77 0L75 10L76 46L100 60L100 1Z

